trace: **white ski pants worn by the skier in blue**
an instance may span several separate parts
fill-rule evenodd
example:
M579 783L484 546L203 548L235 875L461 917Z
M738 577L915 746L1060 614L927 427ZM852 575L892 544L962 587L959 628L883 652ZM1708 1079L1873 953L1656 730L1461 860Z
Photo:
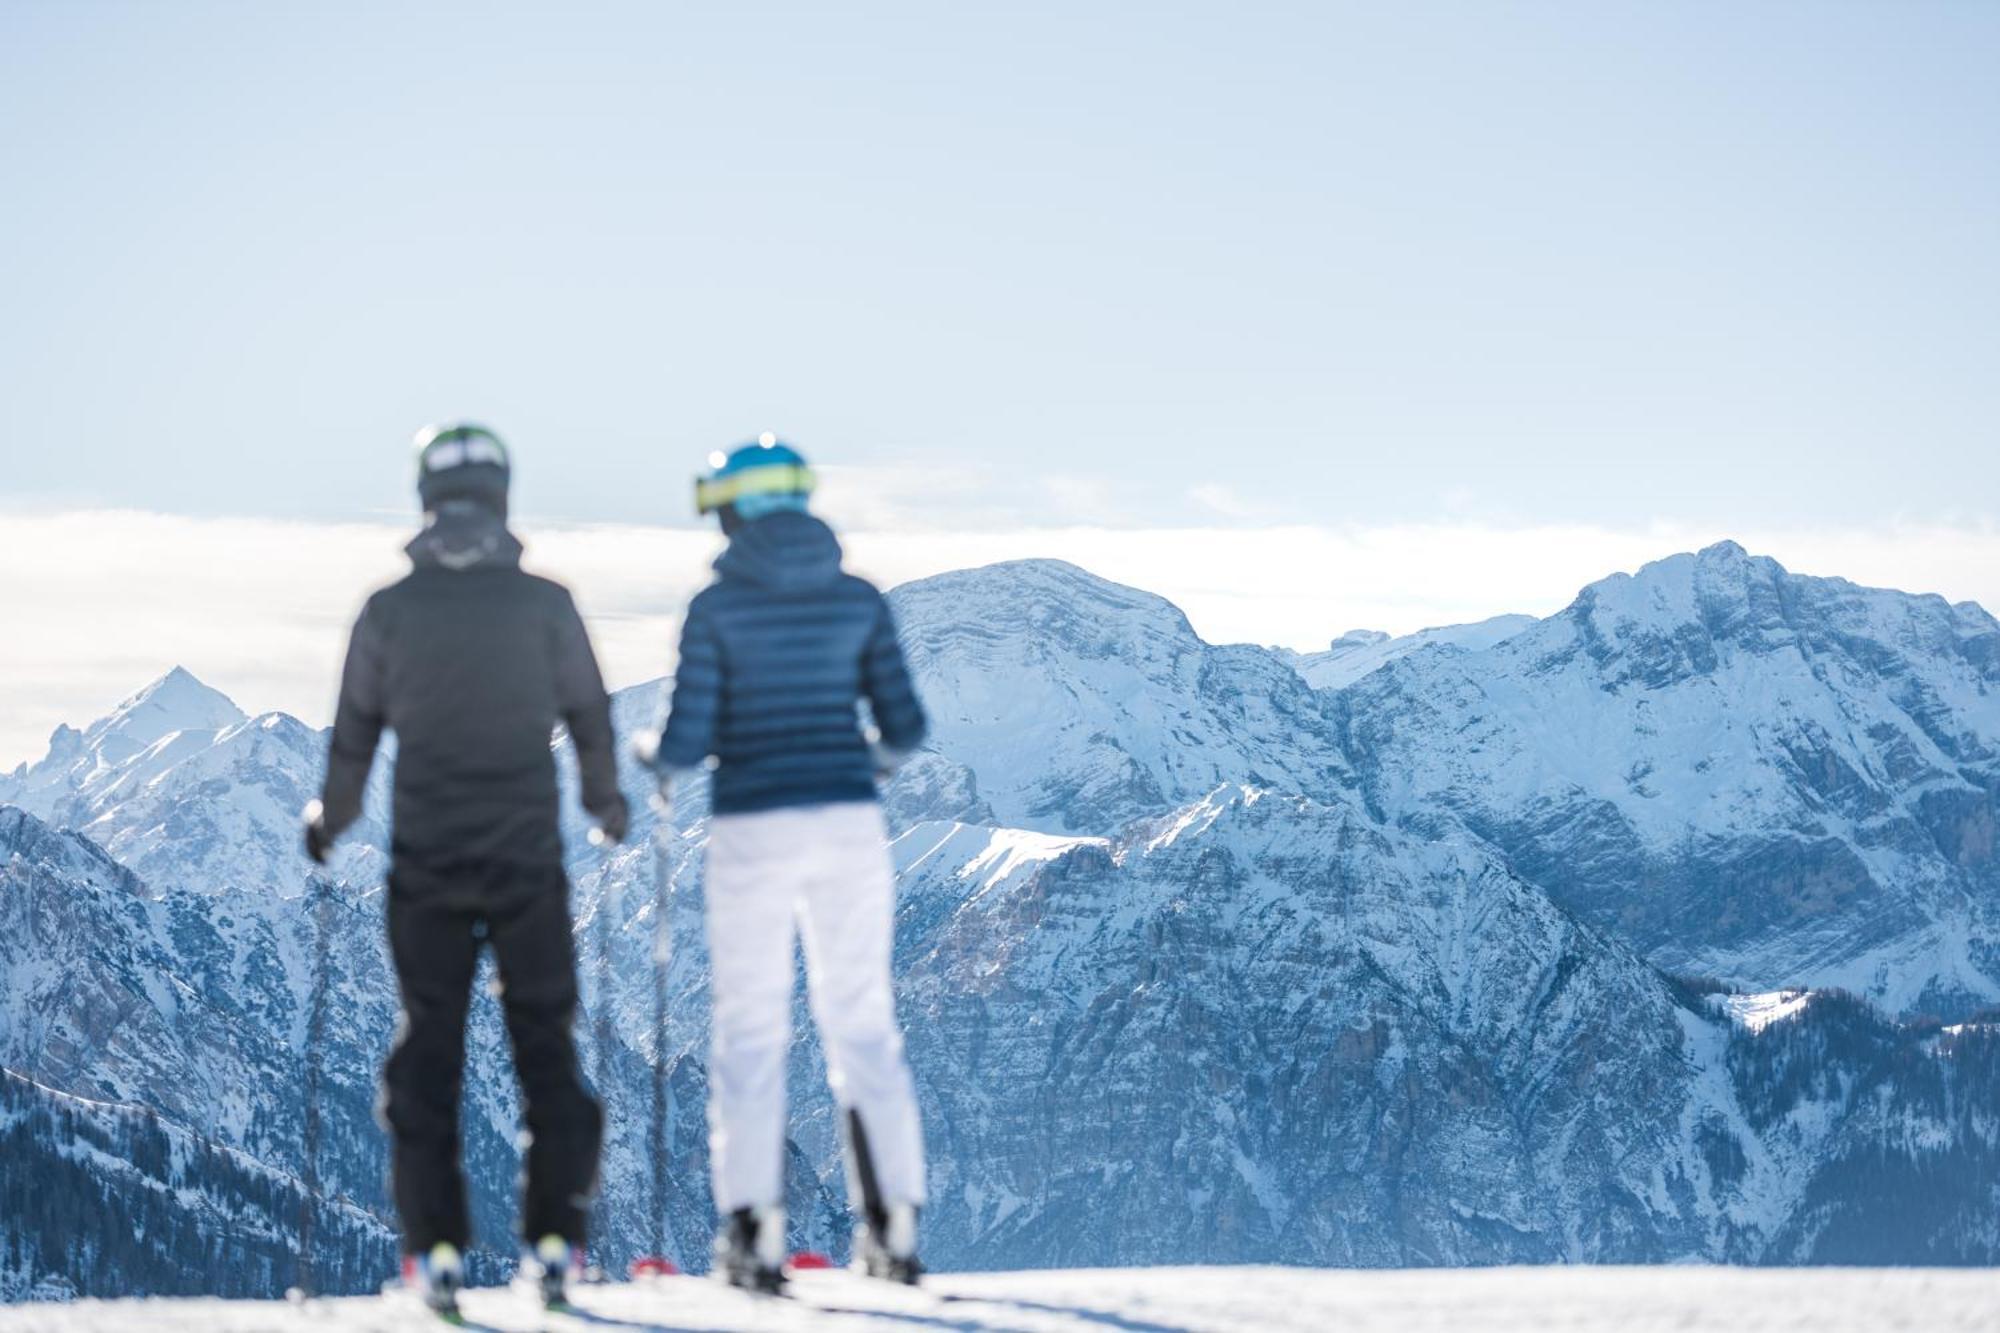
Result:
M872 1169L882 1203L924 1203L924 1131L890 993L894 875L882 809L816 805L718 815L708 833L708 955L714 1049L708 1153L716 1209L784 1203L784 1067L792 1043L792 939L826 1081L864 1131L848 1143L848 1189ZM844 1125L846 1129L846 1125Z

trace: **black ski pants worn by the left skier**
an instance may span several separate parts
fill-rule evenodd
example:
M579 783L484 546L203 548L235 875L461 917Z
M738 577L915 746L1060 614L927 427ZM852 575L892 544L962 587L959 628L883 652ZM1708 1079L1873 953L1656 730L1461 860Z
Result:
M570 885L560 865L474 863L390 871L388 941L402 989L402 1029L382 1071L404 1247L466 1249L466 1179L458 1107L466 1011L480 949L492 945L500 1007L514 1043L528 1121L522 1237L584 1243L604 1117L584 1089L570 1025L576 957Z

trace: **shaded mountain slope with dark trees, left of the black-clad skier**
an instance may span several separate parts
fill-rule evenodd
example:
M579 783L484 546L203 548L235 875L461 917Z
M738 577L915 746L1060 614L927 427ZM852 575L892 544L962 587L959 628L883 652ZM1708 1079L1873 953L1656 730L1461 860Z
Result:
M242 907L154 895L82 835L0 809L0 1295L292 1281L306 917ZM378 1267L394 1233L348 1195L386 1161L368 1105L394 997L374 931L330 943L346 985L326 997L314 1213L338 1263Z

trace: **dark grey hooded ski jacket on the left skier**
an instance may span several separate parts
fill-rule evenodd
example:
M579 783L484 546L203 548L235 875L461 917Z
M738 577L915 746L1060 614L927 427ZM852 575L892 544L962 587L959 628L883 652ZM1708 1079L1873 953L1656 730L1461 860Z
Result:
M622 831L610 699L568 590L524 574L520 542L480 506L444 506L408 554L416 568L368 598L348 642L328 835L360 817L386 727L400 871L560 863L556 723L576 743L584 809Z

